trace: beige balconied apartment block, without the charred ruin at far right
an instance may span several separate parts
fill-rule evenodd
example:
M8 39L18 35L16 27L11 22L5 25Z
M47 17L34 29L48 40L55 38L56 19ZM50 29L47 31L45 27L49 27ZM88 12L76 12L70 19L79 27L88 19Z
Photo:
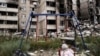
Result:
M30 11L35 13L63 14L76 9L76 0L0 0L0 32L14 33L25 29ZM38 6L36 5L38 4ZM32 17L31 31L46 35L63 32L70 26L66 16Z

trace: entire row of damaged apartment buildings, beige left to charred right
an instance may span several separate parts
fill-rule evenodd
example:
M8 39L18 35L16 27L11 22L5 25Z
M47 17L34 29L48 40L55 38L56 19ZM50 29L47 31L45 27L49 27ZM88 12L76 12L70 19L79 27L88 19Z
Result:
M92 8L92 10L91 10ZM15 33L25 29L29 13L64 14L74 10L77 18L100 23L99 0L0 0L0 33ZM67 16L33 16L31 32L47 35L64 32L71 27Z

